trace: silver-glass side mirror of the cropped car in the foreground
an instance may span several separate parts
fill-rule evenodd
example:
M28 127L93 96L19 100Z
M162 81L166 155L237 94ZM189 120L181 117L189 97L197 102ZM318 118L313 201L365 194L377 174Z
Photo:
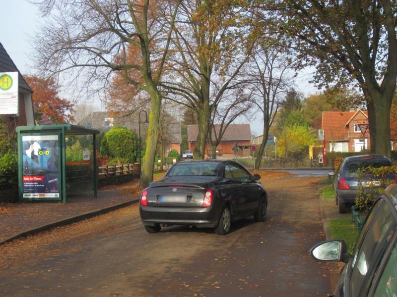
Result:
M341 239L321 242L312 247L309 253L318 262L347 262L351 258L345 241Z

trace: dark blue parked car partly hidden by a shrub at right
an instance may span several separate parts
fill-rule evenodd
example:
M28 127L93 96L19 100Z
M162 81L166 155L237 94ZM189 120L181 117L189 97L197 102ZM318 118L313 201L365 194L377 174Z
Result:
M351 156L343 159L336 172L333 181L333 189L335 190L335 202L338 205L339 213L346 213L350 206L354 203L359 186L367 193L376 193L377 189L382 186L383 177L375 177L371 172L358 178L358 169L366 167L379 168L382 166L393 166L392 161L381 155L359 155ZM328 173L335 175L333 171ZM394 175L387 178L394 179Z

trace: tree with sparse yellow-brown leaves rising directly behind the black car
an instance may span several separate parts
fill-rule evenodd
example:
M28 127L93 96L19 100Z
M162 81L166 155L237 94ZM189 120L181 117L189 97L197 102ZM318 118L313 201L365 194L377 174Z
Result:
M238 7L230 1L185 1L173 38L173 64L163 86L170 99L197 114L194 156L204 158L211 114L225 92L239 88L235 78L248 60ZM219 88L214 81L221 81Z

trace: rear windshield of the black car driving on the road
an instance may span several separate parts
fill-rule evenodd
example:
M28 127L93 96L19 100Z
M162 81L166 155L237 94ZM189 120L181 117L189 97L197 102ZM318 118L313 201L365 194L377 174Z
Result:
M175 164L168 171L167 176L216 176L218 165L219 163L216 162Z

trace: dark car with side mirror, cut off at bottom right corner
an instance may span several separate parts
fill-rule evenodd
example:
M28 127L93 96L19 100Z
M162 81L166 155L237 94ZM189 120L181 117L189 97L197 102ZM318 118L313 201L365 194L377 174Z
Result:
M390 185L368 213L354 247L343 240L322 242L310 249L319 262L342 261L336 297L397 296L397 184Z

